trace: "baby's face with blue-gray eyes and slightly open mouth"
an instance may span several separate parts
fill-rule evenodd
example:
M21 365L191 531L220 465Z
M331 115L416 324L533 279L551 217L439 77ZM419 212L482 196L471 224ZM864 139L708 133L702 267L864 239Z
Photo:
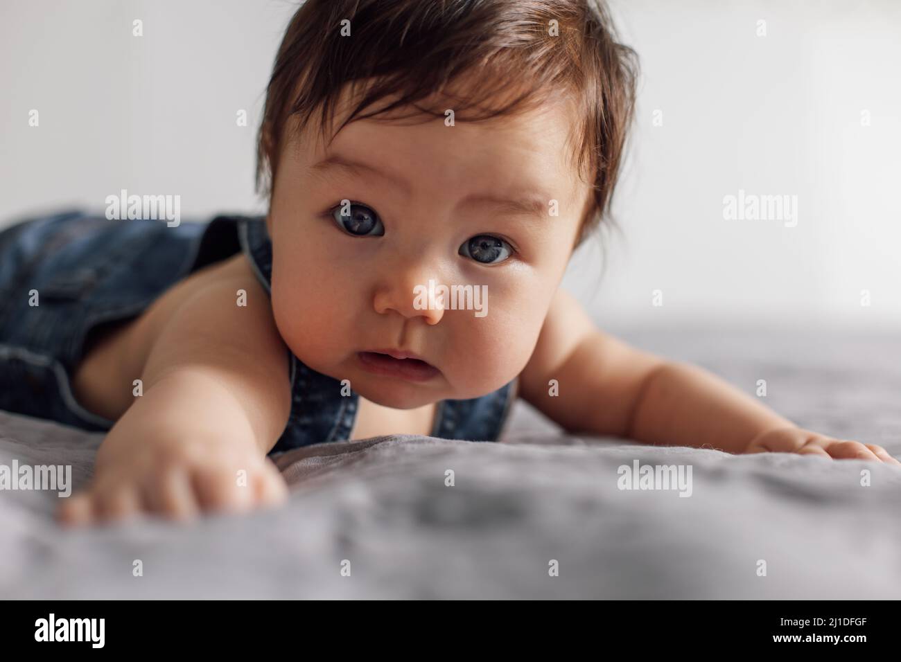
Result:
M563 105L454 126L368 119L327 150L318 131L288 142L267 222L273 312L296 357L401 409L478 397L517 376L587 204L569 119ZM481 310L461 309L462 295L457 309L450 297L443 309L430 302L430 280L435 291L470 286ZM394 374L402 361L367 361L379 350L432 370Z

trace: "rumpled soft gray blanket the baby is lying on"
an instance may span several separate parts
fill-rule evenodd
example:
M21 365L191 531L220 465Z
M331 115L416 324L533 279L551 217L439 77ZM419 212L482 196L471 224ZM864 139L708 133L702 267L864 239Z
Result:
M901 457L901 334L625 335ZM0 413L0 464L69 464L76 487L101 440ZM621 489L636 460L691 467L690 496ZM285 507L187 526L66 531L56 493L2 491L0 597L901 598L899 467L565 435L522 403L500 443L380 437L278 465Z

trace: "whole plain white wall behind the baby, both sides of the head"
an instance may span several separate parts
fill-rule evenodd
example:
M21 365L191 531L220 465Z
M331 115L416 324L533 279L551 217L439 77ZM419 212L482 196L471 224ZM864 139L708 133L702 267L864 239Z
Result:
M612 328L901 324L901 3L612 4L642 59L623 236L602 238L603 277L601 239L581 249L566 286ZM0 226L120 188L179 194L188 216L259 212L254 138L294 7L5 0ZM796 195L796 227L724 220L739 189Z

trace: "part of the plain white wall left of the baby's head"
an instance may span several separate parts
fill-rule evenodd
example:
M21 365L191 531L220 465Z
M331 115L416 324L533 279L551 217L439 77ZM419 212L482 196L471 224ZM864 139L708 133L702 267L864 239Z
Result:
M294 6L4 0L0 223L60 204L103 209L122 188L179 194L183 216L261 209L254 140Z

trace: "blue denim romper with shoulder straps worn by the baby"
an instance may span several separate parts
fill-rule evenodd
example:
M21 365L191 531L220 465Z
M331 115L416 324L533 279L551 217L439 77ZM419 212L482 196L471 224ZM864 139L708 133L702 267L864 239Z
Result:
M169 227L69 211L0 231L0 410L109 430L114 421L87 411L71 388L88 331L140 315L168 287L239 251L269 292L272 244L263 217ZM269 456L348 440L359 395L342 396L339 380L287 354L291 413ZM432 437L497 440L515 393L516 379L478 398L442 400Z

